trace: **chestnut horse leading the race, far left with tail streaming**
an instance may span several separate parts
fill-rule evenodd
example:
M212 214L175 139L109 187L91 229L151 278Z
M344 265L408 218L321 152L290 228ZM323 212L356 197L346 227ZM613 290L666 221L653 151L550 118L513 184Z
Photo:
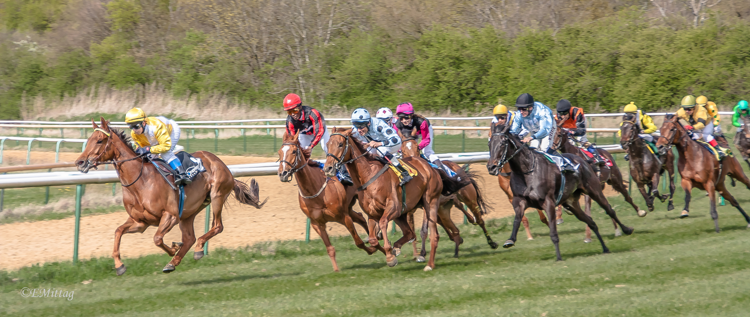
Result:
M122 184L122 203L128 218L115 230L115 259L117 275L125 273L125 265L120 259L120 239L123 233L143 233L149 226L158 227L154 234L154 244L173 256L162 271L175 271L182 258L196 242L193 221L196 215L211 204L214 215L211 230L198 238L193 259L202 258L205 242L223 230L221 210L226 198L234 191L240 203L260 208L263 203L258 197L255 179L250 186L234 179L229 168L219 158L205 151L193 153L202 160L205 172L199 173L190 185L184 187L185 200L182 215L178 211L178 191L173 190L162 178L153 164L137 155L130 147L130 136L119 129L109 127L109 122L101 118L101 128L92 120L94 133L89 137L86 149L78 157L76 165L81 173L98 164L113 164ZM171 176L170 176L171 177ZM173 181L173 179L172 179ZM266 200L268 200L266 198ZM164 235L179 224L182 241L167 246Z

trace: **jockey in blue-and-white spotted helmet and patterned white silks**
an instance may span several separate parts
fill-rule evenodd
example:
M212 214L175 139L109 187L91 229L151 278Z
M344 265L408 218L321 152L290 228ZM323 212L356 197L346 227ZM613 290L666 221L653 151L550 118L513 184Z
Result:
M388 159L388 161L401 172L401 183L404 185L412 179L409 172L399 164L398 159L394 158L393 155L401 150L401 138L398 137L398 133L389 126L383 120L377 118L373 120L370 117L370 112L364 108L355 109L352 113L352 135L354 135L363 144L371 147L370 153L380 154Z

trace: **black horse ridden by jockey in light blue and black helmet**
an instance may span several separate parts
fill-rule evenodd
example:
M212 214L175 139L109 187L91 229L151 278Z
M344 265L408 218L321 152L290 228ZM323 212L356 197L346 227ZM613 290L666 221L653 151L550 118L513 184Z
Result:
M511 191L513 191L513 208L515 219L513 232L502 247L513 247L516 241L520 220L527 207L544 209L548 219L555 218L555 207L559 204L575 215L578 220L586 223L596 234L604 253L609 253L607 245L601 239L598 227L589 215L580 209L578 200L581 194L592 198L610 218L614 219L625 234L633 233L633 228L623 225L615 211L601 192L598 176L583 158L573 154L562 154L572 164L580 164L577 173L562 173L556 164L544 157L544 154L531 150L528 144L523 144L516 135L508 132L510 126L499 126L499 132L493 132L490 138L490 161L487 170L491 175L497 175L503 165L511 166ZM562 260L559 250L559 237L555 221L548 221L550 238L555 245L558 261Z

